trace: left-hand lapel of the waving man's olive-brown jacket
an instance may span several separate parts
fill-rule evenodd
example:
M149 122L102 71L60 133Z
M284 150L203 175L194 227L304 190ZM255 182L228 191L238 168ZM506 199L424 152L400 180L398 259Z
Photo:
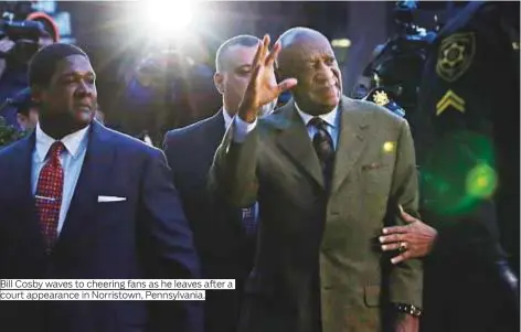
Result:
M305 170L320 186L325 188L322 169L317 153L309 139L306 126L291 99L272 118L275 126L281 129L277 137L279 147L290 157L294 163Z

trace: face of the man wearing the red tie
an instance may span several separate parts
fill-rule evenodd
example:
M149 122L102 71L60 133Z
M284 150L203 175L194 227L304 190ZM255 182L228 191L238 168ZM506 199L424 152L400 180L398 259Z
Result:
M97 92L89 61L71 55L56 65L51 83L39 96L41 117L60 118L74 127L88 125L95 115Z

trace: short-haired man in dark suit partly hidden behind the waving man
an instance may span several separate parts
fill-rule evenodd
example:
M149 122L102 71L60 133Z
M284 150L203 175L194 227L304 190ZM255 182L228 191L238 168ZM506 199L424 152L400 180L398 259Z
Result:
M171 130L164 138L164 152L194 233L204 278L236 279L235 291L208 292L209 332L235 331L243 283L255 254L257 206L243 210L230 206L223 197L208 194L206 180L215 150L246 89L259 42L256 36L238 35L220 46L214 83L223 107L215 116Z

